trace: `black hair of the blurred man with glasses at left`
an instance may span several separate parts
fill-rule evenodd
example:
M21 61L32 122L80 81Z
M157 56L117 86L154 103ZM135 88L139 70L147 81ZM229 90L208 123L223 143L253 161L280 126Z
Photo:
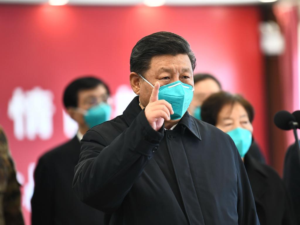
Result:
M82 90L94 89L98 85L103 85L107 90L107 95L110 95L108 86L98 78L95 78L93 76L85 76L73 80L64 90L64 107L77 107L78 92Z

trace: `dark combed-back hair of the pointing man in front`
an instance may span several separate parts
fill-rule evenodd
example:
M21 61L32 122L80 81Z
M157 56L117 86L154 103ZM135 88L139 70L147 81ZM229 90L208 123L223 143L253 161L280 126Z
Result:
M171 32L157 32L142 38L132 49L130 55L130 72L139 74L149 69L150 61L156 55L185 54L190 58L192 69L196 67L196 58L190 44Z

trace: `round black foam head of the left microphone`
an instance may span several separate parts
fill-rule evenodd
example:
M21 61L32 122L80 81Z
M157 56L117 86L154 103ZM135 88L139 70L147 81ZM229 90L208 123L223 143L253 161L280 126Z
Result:
M297 112L297 111L296 111ZM300 121L300 111L299 113L296 113L298 116L298 119ZM277 112L274 116L274 123L275 125L280 128L281 130L291 130L299 128L299 123L295 118L295 115L289 113L288 111L281 110Z

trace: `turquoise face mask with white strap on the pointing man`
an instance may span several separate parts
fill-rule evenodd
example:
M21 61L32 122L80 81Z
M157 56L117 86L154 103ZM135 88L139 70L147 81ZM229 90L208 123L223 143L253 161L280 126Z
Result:
M140 74L139 74L140 75ZM140 75L147 83L153 88L154 86ZM171 115L171 119L180 119L187 111L190 103L193 99L194 88L191 85L176 81L164 86L161 86L158 90L158 99L164 99L172 105L174 114Z

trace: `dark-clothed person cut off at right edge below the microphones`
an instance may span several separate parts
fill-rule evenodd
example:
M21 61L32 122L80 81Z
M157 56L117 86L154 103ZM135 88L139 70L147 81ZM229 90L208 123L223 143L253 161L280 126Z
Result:
M300 161L299 152L295 144L289 146L283 167L283 182L291 196L292 205L300 225Z

